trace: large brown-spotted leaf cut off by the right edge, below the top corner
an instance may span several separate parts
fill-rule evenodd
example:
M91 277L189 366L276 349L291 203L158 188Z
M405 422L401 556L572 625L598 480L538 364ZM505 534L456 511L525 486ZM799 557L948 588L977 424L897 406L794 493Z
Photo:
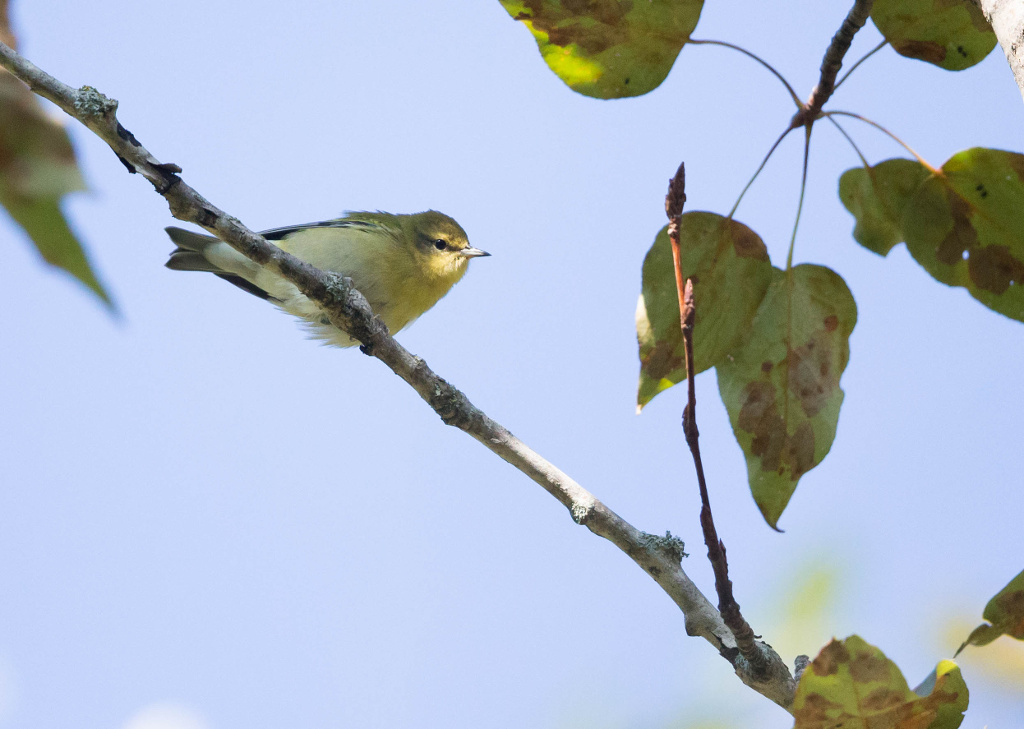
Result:
M1024 155L954 155L918 188L901 227L929 273L1024 321Z

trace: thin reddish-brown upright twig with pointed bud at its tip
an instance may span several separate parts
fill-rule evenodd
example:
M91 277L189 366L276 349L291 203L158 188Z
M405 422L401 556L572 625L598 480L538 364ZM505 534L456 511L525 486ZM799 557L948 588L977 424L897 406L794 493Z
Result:
M729 563L725 556L725 543L715 529L715 517L711 511L708 496L708 481L705 478L703 463L700 460L700 444L697 432L697 395L693 376L693 324L696 309L693 305L693 281L683 283L682 247L679 243L679 228L682 224L683 205L686 203L686 172L682 164L676 176L669 182L669 192L665 197L665 212L669 216L669 241L672 244L672 260L676 269L676 294L679 299L679 324L683 333L683 352L686 358L686 408L683 410L683 432L686 444L693 457L697 472L697 486L700 489L700 529L708 547L708 560L715 573L715 591L718 593L718 609L722 619L736 640L736 648L756 675L767 676L772 671L771 658L763 652L762 645L755 639L754 631L739 611L739 604L732 594L729 580Z

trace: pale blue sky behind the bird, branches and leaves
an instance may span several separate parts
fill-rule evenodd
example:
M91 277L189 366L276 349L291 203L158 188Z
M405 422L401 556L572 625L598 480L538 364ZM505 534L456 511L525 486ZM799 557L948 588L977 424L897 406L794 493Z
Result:
M695 36L762 54L806 96L848 8L776 5L709 3ZM652 93L585 98L495 0L12 14L30 58L118 98L159 159L254 229L456 217L494 256L399 340L636 526L682 537L710 594L682 392L634 415L633 315L679 161L688 209L725 213L792 116L760 67L687 47ZM1024 149L998 50L949 74L886 49L833 108L935 165ZM872 161L901 154L846 126ZM67 211L123 317L0 219L0 727L790 726L630 560L380 362L165 269L164 201L70 130L91 191ZM755 630L787 661L858 633L912 685L951 655L948 625L977 621L1024 566L1024 329L903 247L857 246L837 196L857 158L827 125L814 142L796 259L838 270L859 307L838 438L773 532L709 373L705 463ZM736 215L776 262L799 158L795 135ZM827 610L796 619L808 574L829 575ZM968 652L964 726L1020 716L1021 652L1016 689Z

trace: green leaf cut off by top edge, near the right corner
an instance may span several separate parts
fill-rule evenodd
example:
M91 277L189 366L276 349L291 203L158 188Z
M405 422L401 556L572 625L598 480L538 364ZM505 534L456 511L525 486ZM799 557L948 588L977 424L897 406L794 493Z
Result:
M897 53L946 71L968 69L995 47L971 0L876 0L871 19Z

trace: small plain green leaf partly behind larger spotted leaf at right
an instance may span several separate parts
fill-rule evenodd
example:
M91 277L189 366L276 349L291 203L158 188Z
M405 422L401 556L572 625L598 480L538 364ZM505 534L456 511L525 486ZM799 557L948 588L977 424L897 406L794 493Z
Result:
M855 167L839 179L839 197L857 224L853 237L869 251L886 256L903 241L903 211L929 175L913 160L886 160L873 167Z

